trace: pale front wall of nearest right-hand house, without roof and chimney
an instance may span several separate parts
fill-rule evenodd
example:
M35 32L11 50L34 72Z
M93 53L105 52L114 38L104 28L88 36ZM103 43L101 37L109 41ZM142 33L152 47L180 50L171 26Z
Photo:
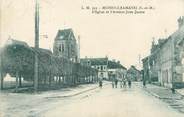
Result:
M176 47L176 42L177 39L170 38L160 50L159 81L162 86L169 88L184 86L182 57L180 57L183 50Z

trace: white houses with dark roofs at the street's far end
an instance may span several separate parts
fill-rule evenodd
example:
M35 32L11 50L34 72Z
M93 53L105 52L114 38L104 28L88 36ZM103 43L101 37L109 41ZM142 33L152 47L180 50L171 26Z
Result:
M127 69L120 64L119 61L108 60L105 58L83 58L81 64L91 66L98 70L98 78L105 80L113 80L115 78L122 79L126 75Z

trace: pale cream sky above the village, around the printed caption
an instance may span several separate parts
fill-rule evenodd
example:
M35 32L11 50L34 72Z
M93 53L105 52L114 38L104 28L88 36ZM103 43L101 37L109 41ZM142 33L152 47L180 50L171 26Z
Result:
M35 0L0 0L0 45L11 37L34 46ZM153 37L165 38L178 29L184 0L39 0L40 47L52 49L59 29L80 35L81 57L116 59L125 67L149 55ZM145 14L92 14L81 7L152 6ZM44 38L42 35L48 35Z

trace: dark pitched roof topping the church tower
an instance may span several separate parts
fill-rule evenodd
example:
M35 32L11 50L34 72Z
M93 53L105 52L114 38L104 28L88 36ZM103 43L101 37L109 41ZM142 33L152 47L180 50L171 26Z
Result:
M68 40L72 39L71 37L74 37L73 30L71 28L63 29L58 31L55 40Z

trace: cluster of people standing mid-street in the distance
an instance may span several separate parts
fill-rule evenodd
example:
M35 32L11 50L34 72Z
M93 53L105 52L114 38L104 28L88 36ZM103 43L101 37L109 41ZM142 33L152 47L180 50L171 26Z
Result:
M127 83L128 83L128 87L131 88L132 82L130 79L120 79L118 80L117 78L115 78L114 80L112 80L112 88L117 88L118 86L118 82L120 82L120 88L126 88L127 87Z

